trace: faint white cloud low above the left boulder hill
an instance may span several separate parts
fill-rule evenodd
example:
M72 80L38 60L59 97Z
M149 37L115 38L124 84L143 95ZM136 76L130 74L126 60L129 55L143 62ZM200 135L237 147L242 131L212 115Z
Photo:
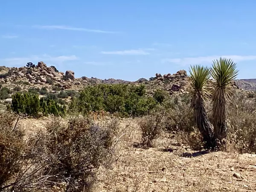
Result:
M6 66L22 66L26 65L27 62L37 63L38 61L44 61L46 64L62 64L66 61L74 61L79 58L76 55L61 55L61 56L50 56L50 55L32 55L29 57L15 57L15 58L3 58L0 59L1 63Z

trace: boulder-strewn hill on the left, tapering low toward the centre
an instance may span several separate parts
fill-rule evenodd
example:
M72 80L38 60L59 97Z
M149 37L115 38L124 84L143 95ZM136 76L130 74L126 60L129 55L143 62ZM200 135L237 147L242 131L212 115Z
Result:
M62 89L76 89L79 85L94 84L119 84L131 83L120 79L97 79L81 77L75 78L75 73L67 70L65 73L59 72L54 66L47 67L43 61L30 67L0 67L0 83L1 84L27 84L35 87L57 86Z

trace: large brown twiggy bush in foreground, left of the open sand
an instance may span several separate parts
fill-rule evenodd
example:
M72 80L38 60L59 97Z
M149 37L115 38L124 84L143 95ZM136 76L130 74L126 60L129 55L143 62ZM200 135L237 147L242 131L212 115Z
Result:
M47 130L29 141L33 158L42 166L38 178L41 189L87 191L97 169L111 149L111 130L84 117L54 119Z

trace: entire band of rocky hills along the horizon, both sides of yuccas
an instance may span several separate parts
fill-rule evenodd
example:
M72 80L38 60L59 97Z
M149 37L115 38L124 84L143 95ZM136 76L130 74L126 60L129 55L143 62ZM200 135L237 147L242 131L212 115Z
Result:
M249 80L248 80L249 81ZM256 84L248 81L234 81L235 88L253 91L256 90ZM154 90L163 89L172 95L173 93L187 93L188 77L186 70L179 70L177 73L155 74L149 80L145 78L137 81L124 81L121 79L98 79L83 76L76 78L71 70L59 72L54 66L47 67L43 61L37 65L28 63L27 67L0 67L0 84L2 87L13 89L29 90L31 87L40 89L44 87L49 92L60 92L60 90L79 91L85 86L96 84L145 84L148 94L154 94Z

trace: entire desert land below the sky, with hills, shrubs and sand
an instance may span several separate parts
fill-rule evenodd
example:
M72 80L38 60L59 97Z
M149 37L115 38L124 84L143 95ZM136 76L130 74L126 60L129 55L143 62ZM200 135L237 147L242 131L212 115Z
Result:
M0 67L0 191L255 191L256 84L227 69L124 81L43 61ZM228 94L220 143L218 72Z

